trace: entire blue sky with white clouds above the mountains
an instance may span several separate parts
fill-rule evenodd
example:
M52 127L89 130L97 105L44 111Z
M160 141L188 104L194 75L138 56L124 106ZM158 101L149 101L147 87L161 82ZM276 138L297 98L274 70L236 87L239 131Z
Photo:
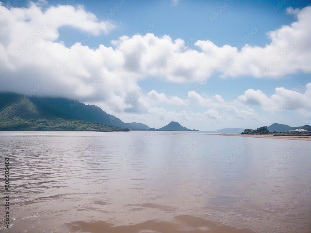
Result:
M310 23L302 0L0 2L0 92L152 128L310 125Z

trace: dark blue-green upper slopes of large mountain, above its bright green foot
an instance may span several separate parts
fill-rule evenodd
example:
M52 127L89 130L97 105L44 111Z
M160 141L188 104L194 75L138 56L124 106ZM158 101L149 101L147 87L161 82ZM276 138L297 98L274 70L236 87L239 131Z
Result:
M20 104L22 99L25 103ZM17 109L17 111L14 112L13 108ZM89 121L119 128L150 129L149 126L142 123L124 123L119 118L104 112L100 107L95 105L85 105L84 103L75 102L66 98L30 97L28 99L16 93L0 93L0 110L5 112L4 115L10 111L14 116L21 117L22 119L57 117ZM27 118L28 115L29 117Z

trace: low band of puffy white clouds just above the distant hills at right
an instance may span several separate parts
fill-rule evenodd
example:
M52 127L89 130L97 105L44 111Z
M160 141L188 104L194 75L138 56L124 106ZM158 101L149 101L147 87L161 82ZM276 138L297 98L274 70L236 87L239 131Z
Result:
M179 119L180 121L216 121L216 123L230 120L264 122L266 118L260 117L259 112L256 112L254 108L265 110L271 116L280 117L281 112L298 111L304 118L310 118L311 83L301 86L299 91L283 87L276 88L275 94L270 97L261 90L253 89L246 90L234 100L224 100L218 94L211 97L202 96L194 91L189 91L188 97L189 101L185 101L182 105L180 103L184 100L183 98L167 97L164 93L159 94L154 90L142 95L141 98L146 100L145 106L148 113L171 121ZM166 111L163 107L153 107L161 104L170 105L173 107L170 109L178 109L178 111ZM189 104L208 108L208 110L187 115L184 109ZM167 114L166 117L164 117L165 114Z

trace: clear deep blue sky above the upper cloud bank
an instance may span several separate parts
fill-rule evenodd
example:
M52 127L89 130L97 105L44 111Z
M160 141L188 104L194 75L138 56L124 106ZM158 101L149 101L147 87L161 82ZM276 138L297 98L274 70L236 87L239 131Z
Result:
M72 0L68 0L72 1ZM250 45L264 46L269 43L267 32L288 25L295 20L293 15L286 14L287 7L302 8L310 5L310 1L287 1L279 10L273 9L277 1L181 1L173 9L171 1L135 1L124 0L125 4L112 15L109 20L119 24L119 27L108 35L102 35L91 40L91 47L104 44L109 46L112 39L123 35L132 36L143 33L149 24L156 25L152 33L156 36L170 35L172 39L183 40L192 36L195 40L209 39L216 45L237 45L241 38L250 32L253 26L259 28L251 39ZM107 20L110 9L116 7L121 1L80 1L72 2L73 6L81 4L86 11L94 13L99 20ZM209 19L214 11L219 10L225 3L229 6L224 14L218 18ZM66 1L49 1L49 4L67 4ZM49 6L49 5L47 5ZM195 25L195 26L194 26ZM68 28L67 28L68 29ZM60 40L68 45L75 43L71 33L76 36L83 35L81 31L72 29L70 34L66 29L60 30ZM243 42L242 42L243 43Z

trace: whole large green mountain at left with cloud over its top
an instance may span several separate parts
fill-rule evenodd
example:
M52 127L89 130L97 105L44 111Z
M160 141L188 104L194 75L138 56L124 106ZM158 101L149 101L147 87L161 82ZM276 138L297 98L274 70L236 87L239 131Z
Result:
M0 130L113 130L144 128L142 123L124 123L94 105L65 98L26 98L0 93Z

